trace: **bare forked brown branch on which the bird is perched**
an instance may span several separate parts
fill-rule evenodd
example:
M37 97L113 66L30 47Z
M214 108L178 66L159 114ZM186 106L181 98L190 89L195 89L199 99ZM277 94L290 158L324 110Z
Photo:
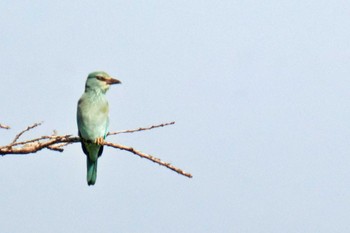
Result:
M49 150L53 150L53 151L63 152L64 151L63 147L65 147L69 144L81 142L79 137L75 137L72 135L56 135L56 132L54 132L51 136L41 136L38 138L18 142L19 138L24 133L28 132L31 129L34 129L37 126L40 126L41 124L42 123L35 123L31 126L28 126L26 129L22 130L19 134L17 134L15 136L15 138L13 139L13 141L9 145L0 146L0 155L4 156L4 155L8 155L8 154L31 154L31 153L36 153L42 149L49 149ZM164 126L168 126L168 125L173 125L173 124L175 124L175 122L163 123L163 124L159 124L159 125L152 125L150 127L144 127L144 128L138 128L138 129L132 129L132 130L122 130L122 131L108 133L107 136L121 134L121 133L134 133L134 132L138 132L138 131L151 130L151 129L164 127ZM183 171L182 169L171 165L170 163L164 162L159 158L156 158L152 155L143 153L143 152L136 150L132 147L124 146L124 145L116 144L116 143L111 143L108 141L102 142L102 145L131 152L135 155L138 155L141 158L148 159L154 163L157 163L161 166L164 166L168 169L171 169L171 170L177 172L178 174L192 178L192 175L190 173L187 173L187 172Z

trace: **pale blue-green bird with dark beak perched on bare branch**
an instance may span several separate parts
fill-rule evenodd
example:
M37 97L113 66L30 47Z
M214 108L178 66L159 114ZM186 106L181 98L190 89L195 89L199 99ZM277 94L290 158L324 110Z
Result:
M77 109L77 123L81 147L86 154L87 183L94 185L97 176L97 160L102 155L102 142L108 133L109 107L106 92L110 85L121 83L106 72L90 73L85 92L80 97Z

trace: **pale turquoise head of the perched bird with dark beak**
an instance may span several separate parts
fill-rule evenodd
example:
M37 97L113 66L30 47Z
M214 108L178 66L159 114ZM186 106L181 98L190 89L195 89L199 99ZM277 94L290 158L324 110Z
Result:
M89 74L85 84L86 90L99 90L105 93L112 84L121 83L119 80L112 78L106 72L96 71Z

